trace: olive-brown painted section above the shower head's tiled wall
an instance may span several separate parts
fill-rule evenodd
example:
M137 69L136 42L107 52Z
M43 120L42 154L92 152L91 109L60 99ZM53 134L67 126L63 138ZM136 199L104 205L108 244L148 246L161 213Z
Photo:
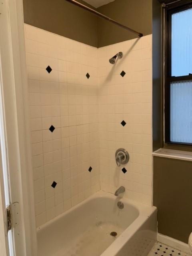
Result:
M115 0L97 9L110 18L140 32L152 33L152 0ZM106 20L98 18L98 47L136 38Z

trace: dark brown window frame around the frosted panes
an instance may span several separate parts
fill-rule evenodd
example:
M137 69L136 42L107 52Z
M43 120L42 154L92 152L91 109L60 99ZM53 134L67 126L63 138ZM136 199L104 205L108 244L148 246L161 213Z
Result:
M170 141L170 84L173 81L192 80L187 76L171 76L171 16L174 13L192 8L192 0L183 0L171 4L165 10L164 25L164 148L192 151L192 143Z

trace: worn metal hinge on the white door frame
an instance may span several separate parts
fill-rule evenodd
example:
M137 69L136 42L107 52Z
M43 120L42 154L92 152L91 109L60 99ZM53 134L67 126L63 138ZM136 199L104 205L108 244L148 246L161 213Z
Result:
M7 232L18 225L19 203L14 202L6 207L6 226Z

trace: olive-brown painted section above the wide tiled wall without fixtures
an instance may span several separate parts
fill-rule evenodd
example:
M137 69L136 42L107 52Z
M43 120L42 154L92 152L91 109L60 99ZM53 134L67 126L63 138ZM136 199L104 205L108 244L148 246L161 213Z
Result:
M97 46L97 17L93 14L65 0L23 0L23 5L25 23Z

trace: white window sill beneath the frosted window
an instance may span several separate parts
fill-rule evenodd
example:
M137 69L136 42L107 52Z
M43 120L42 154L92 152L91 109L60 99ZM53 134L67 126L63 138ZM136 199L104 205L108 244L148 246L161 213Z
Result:
M192 152L167 149L167 148L160 148L160 149L154 151L152 153L152 156L192 161Z

